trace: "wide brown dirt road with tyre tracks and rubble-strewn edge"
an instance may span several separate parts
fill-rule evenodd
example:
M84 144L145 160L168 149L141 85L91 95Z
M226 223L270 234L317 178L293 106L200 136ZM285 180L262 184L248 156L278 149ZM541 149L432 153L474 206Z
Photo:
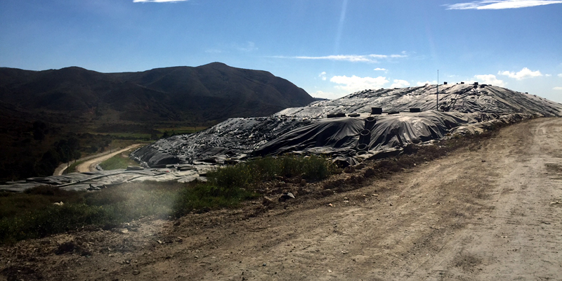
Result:
M561 188L562 119L535 119L256 216L261 202L4 247L0 280L562 280Z

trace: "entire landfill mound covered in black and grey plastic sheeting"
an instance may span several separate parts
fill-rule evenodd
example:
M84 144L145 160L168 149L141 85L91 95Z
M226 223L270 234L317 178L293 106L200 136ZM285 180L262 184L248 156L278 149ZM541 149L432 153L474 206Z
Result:
M538 96L478 84L365 90L320 100L270 117L231 118L188 135L173 136L131 153L146 169L98 171L29 178L1 185L22 191L39 184L98 190L128 181L204 181L216 164L248 157L325 155L339 164L396 155L411 144L447 135L483 132L533 117L561 117L562 105Z

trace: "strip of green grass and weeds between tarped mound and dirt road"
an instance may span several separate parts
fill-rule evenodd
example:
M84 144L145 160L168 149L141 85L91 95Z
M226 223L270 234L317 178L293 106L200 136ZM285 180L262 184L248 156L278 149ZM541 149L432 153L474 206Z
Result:
M112 228L140 216L182 216L235 207L256 197L255 188L276 176L320 180L333 171L332 163L322 157L266 157L218 169L208 174L207 183L126 183L99 192L49 186L19 194L0 192L0 243L84 227Z

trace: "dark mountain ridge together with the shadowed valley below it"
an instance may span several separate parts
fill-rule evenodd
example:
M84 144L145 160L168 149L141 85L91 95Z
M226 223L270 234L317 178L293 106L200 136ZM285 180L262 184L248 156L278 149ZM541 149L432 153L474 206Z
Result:
M84 155L313 101L269 72L223 63L126 73L0 67L0 182L52 174L75 158L69 143Z

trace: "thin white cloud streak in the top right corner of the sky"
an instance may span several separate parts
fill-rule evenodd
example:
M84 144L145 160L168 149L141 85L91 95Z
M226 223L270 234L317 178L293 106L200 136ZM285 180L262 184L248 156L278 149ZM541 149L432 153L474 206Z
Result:
M549 4L562 4L562 0L483 0L444 6L447 7L447 10L501 10L507 8L528 8Z

